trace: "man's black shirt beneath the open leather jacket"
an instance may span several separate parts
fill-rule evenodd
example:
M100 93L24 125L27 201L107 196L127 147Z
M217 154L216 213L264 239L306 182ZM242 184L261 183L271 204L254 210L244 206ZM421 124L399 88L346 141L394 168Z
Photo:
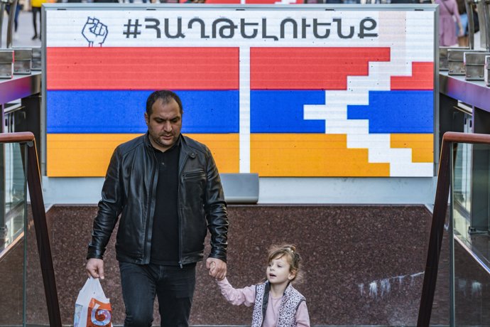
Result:
M151 263L178 265L178 164L180 139L165 152L153 148L158 161L155 215L151 238Z

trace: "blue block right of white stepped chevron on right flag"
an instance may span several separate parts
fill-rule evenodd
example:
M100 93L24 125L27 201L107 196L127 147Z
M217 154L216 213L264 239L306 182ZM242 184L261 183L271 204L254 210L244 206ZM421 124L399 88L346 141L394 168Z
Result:
M433 91L371 91L368 105L347 106L348 119L369 119L369 133L434 132Z

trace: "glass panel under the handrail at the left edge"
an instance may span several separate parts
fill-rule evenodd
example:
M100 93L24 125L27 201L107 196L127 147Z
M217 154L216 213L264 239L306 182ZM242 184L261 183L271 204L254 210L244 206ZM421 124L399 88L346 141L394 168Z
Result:
M23 146L0 144L0 326L24 321L26 177Z

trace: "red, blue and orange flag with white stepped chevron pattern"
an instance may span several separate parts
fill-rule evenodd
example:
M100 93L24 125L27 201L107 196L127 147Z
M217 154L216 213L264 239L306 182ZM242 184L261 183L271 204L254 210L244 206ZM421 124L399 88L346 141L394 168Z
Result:
M367 76L370 63L390 60L390 48L251 49L251 171L390 176L388 162L369 162L367 146L349 149L347 134L330 132L324 119L305 119L305 106L349 103L348 77ZM433 65L413 63L413 69L411 77L393 77L391 90L368 91L369 104L348 105L344 119L369 120L366 134L388 135L388 147L412 150L408 161L430 163ZM330 99L330 90L346 94ZM425 168L430 173L430 164Z

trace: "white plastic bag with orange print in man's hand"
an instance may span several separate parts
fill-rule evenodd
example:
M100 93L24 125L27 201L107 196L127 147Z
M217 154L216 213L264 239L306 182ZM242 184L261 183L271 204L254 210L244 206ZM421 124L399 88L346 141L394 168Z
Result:
M74 327L112 327L112 311L99 279L89 277L75 303Z

